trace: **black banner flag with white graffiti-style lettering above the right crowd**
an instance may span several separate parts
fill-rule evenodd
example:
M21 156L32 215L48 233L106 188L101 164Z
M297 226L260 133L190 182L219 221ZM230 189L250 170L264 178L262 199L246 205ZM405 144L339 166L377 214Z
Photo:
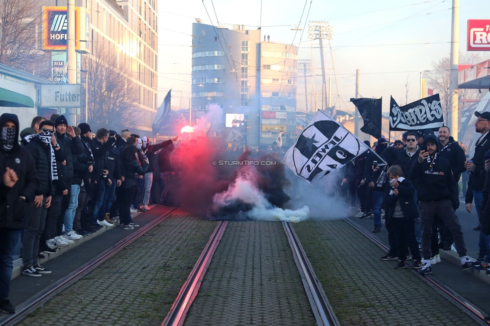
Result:
M413 103L398 106L391 98L390 101L390 130L423 130L442 127L441 100L439 94L432 95Z

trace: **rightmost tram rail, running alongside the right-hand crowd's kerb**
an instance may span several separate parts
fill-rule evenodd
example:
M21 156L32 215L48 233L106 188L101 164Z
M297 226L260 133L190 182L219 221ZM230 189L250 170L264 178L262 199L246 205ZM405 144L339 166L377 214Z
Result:
M381 241L380 238L374 236L371 232L363 228L361 225L355 223L351 219L349 218L343 218L343 219L348 224L350 224L353 228L359 231L362 235L364 235L366 238L370 239L381 249L388 252L389 250L388 246L383 241ZM411 264L409 262L407 264L409 265L409 267L411 267ZM473 318L476 322L478 322L481 325L490 325L490 320L485 319L486 314L481 309L475 307L473 304L471 304L464 297L456 293L450 287L444 285L442 282L440 282L439 280L437 280L435 277L431 275L422 276L419 275L417 270L415 269L410 269L410 270L413 273L415 273L419 278L423 279L424 282L426 282L430 287L436 290L439 294L441 294L447 300L449 300L458 308L463 310L467 315Z

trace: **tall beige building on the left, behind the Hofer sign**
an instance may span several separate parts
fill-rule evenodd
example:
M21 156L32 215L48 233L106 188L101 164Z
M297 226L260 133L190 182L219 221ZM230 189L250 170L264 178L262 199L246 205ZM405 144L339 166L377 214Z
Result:
M41 6L67 6L67 0L41 0L40 3ZM95 57L95 60L97 56L113 56L117 63L114 70L121 67L129 72L128 87L136 93L135 116L128 121L128 126L132 131L149 132L158 108L157 0L75 0L75 7L83 8L89 14L85 33L90 51L78 54L78 72L87 70L87 56ZM80 17L82 19L84 17ZM62 24L59 26L61 29ZM101 44L106 44L107 49L96 51ZM63 58L63 52L53 51L51 64L59 63L57 59ZM79 73L80 83L84 83L84 78ZM80 118L84 120L84 117Z

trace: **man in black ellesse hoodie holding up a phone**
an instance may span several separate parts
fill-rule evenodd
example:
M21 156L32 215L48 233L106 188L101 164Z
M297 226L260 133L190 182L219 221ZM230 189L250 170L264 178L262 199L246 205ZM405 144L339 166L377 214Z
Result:
M437 216L444 221L454 238L454 247L461 260L461 269L471 268L473 263L466 256L463 233L454 207L459 204L458 187L454 181L449 161L438 155L439 141L434 135L424 138L427 151L421 150L412 167L410 179L414 182L419 200L422 229L422 269L419 274L432 273L430 263L432 222Z

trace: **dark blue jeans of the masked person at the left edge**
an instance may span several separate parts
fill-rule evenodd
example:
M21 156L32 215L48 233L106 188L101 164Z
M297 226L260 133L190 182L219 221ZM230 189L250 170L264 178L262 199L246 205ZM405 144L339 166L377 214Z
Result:
M9 297L14 249L20 235L20 229L0 228L0 300Z

